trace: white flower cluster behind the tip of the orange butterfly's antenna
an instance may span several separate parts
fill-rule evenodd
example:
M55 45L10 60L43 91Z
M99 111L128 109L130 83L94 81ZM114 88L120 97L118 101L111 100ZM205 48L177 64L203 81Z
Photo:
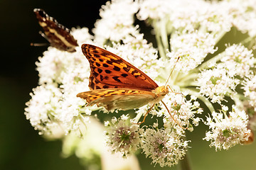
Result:
M209 33L183 33L171 38L171 52L167 53L170 67L174 67L178 57L181 60L176 64L176 70L188 72L203 62L208 53L216 51L215 39Z

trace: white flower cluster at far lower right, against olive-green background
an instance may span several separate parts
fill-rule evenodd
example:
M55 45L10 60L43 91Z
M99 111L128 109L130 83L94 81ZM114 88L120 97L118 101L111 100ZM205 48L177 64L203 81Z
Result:
M206 132L204 140L210 141L210 147L229 149L241 142L248 140L250 130L247 129L248 115L245 111L239 111L235 106L232 111L223 106L222 113L212 113L213 118L208 117L206 125L210 131Z

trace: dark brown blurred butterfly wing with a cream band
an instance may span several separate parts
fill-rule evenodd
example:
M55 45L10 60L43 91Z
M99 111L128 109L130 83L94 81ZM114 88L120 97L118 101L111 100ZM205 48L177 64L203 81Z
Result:
M77 40L70 34L70 30L59 24L54 18L47 15L43 9L35 8L36 18L39 25L43 28L46 34L46 39L50 45L58 50L75 52L75 47L78 46Z

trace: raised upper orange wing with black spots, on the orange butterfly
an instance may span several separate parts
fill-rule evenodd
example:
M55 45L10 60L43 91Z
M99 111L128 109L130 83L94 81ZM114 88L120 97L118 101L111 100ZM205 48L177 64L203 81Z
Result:
M91 74L97 80L95 82L105 86L104 89L114 87L151 91L158 87L144 72L112 52L88 44L82 45L82 52L90 62ZM98 84L92 85L96 87Z

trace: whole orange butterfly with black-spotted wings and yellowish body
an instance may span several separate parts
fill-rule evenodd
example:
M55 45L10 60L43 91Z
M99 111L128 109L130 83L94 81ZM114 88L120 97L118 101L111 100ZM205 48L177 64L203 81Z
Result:
M94 45L83 44L82 53L90 62L91 91L82 92L77 97L84 98L87 106L96 104L98 107L105 107L107 111L114 109L127 111L149 103L151 104L149 111L151 111L154 104L159 103L169 93L169 85L158 86L144 72L112 52ZM166 107L166 104L161 102ZM167 107L166 109L169 112Z

